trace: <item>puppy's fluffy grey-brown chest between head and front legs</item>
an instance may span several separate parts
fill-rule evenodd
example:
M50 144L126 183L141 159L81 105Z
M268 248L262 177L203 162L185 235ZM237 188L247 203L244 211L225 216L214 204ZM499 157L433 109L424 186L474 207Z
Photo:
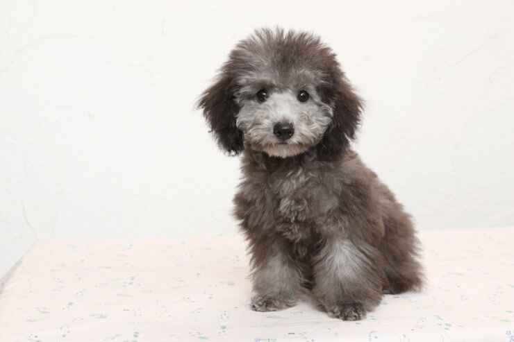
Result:
M338 205L337 191L327 186L329 175L320 167L246 170L234 201L244 230L274 230L293 241L306 240Z

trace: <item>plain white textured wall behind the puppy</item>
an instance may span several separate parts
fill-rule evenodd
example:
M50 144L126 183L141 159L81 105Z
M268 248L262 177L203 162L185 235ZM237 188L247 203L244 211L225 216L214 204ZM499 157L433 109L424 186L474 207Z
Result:
M234 234L194 101L254 28L313 31L420 230L514 224L512 1L0 1L0 273L33 241Z

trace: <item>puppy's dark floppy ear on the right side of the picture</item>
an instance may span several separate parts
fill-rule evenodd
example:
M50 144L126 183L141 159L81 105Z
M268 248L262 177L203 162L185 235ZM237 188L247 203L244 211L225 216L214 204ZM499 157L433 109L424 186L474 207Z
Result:
M332 123L326 129L317 152L322 159L339 157L347 148L360 123L363 102L351 89L345 75L337 70L331 73L336 78L318 87L322 101L332 107Z

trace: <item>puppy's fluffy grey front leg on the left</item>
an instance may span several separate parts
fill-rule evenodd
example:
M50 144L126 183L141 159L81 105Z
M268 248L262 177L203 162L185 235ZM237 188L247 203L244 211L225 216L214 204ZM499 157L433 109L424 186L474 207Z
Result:
M302 277L291 248L283 237L267 239L252 248L253 285L251 309L276 311L292 307L304 291Z

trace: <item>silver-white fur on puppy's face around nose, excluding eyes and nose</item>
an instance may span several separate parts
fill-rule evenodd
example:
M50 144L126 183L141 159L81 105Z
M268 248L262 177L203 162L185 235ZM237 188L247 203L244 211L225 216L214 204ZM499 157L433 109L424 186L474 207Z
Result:
M247 87L253 88L255 93L260 89L251 85ZM297 99L300 90L308 92L309 99L306 102ZM241 109L236 123L244 134L245 142L252 149L274 157L291 157L304 153L320 142L332 121L332 109L321 101L313 86L306 85L295 91L270 89L267 90L267 96L263 103L257 101L249 90L238 96ZM282 122L290 123L295 130L285 142L273 132L274 126Z

